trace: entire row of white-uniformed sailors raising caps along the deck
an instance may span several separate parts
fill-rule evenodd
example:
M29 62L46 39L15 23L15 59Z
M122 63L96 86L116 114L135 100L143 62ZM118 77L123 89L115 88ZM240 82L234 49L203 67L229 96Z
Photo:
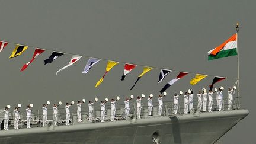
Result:
M213 93L216 92L216 100L217 100L217 107L218 110L221 111L222 110L222 103L223 103L223 87L220 87L218 90L215 89L215 91L209 91L208 93L206 92L206 89L202 89L203 92L201 93L201 91L199 91L199 93L197 94L197 98L198 98L198 106L197 108L199 108L199 110L201 111L201 107L203 106L203 111L206 111L206 105L207 105L207 95L208 95L208 111L212 112L212 105L213 105ZM233 101L233 91L236 89L236 87L233 87L233 89L229 88L228 91L228 110L232 110L231 106L232 106L232 101ZM182 92L180 91L180 94L174 94L173 98L174 98L174 113L177 114L178 111L178 97L180 97L180 95L182 94ZM162 98L164 98L166 95L166 92L164 92L164 95L159 95L158 97L158 115L161 116L162 115L162 106L163 106L163 101ZM142 97L140 98L140 96L137 96L137 119L141 119L141 110L142 110L142 99L145 97L145 95L142 94ZM150 94L148 97L148 115L152 116L152 107L153 107L153 102L152 102L152 97L153 95ZM194 94L192 89L189 89L188 92L185 92L184 95L184 114L188 114L188 110L190 111L193 108L193 98L194 98ZM120 98L117 97L116 100L111 99L111 121L115 121L115 115L116 115L116 101L118 101ZM130 98L126 97L126 100L124 101L124 118L127 120L127 117L129 115L129 111L130 111L130 104L129 101L133 99L133 95L131 95ZM98 101L98 98L95 98L95 101L89 101L88 107L89 107L89 122L92 123L92 117L93 117L93 111L94 111L94 106L93 104L95 104ZM83 101L78 101L77 105L77 121L78 123L81 122L81 111L82 111L82 104L85 102L85 100L83 99ZM101 101L101 117L100 120L101 122L104 122L104 117L105 117L105 103L108 102L108 99L106 98L105 101ZM42 116L42 122L43 122L43 127L45 127L46 121L47 121L47 106L50 104L49 101L47 101L47 104L43 104L42 110L43 110L43 116ZM59 105L61 105L62 103L59 102L59 104L54 104L53 105L53 121L54 121L54 125L57 126L57 117L59 116L59 111L58 111L58 107ZM70 110L69 107L71 107L71 105L73 105L74 102L72 101L71 104L66 103L65 106L65 110L66 110L66 125L69 125L69 120L70 120ZM20 105L21 107L21 105ZM14 110L14 129L18 129L18 120L20 119L20 113L18 111L18 108L20 107L15 107ZM31 107L33 107L33 104L28 105L26 112L27 112L27 128L30 128L30 121L31 121ZM8 130L8 120L9 120L9 107L5 107L5 115L4 115L4 130Z

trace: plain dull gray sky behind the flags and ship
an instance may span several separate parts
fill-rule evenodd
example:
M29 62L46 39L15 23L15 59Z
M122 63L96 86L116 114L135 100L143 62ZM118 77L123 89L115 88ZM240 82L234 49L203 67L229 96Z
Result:
M256 81L256 50L252 44L255 5L256 1L0 1L0 40L118 62L227 76L228 79L215 85L227 88L233 85L237 75L236 56L208 62L207 52L235 33L239 21L241 103L250 114L220 141L252 143L256 128L253 123L256 98L251 95ZM124 64L119 63L94 88L105 72L106 61L102 60L85 75L82 70L88 58L82 57L56 76L56 71L67 65L71 55L44 65L43 60L52 53L46 51L20 72L33 56L34 48L29 47L23 55L10 60L14 47L9 44L0 53L1 107L33 103L36 109L47 100L52 103L92 100L95 95L100 99L142 93L156 95L178 75L172 72L157 84L159 69L153 69L130 91L143 67L137 66L125 81L120 81ZM188 88L207 88L213 79L209 76L192 87L189 81L193 77L190 74L180 79L168 89L168 94Z

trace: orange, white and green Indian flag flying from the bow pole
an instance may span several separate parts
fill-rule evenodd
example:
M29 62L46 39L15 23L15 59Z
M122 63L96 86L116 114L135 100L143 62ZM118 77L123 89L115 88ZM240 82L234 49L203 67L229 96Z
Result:
M236 48L237 48L237 34L234 34L224 43L220 44L220 46L210 50L208 52L208 60L238 55L236 52Z

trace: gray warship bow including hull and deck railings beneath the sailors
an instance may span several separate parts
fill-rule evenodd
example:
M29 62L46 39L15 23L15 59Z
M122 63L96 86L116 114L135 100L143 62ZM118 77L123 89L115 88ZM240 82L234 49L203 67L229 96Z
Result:
M228 110L226 98L222 111L217 110L214 100L212 112L200 112L194 108L189 114L184 114L184 102L180 101L178 113L174 114L173 102L164 101L162 116L158 116L158 107L153 107L152 116L148 116L148 107L143 105L141 119L136 118L136 104L130 104L127 120L124 119L124 105L116 105L116 121L110 121L111 108L107 107L105 123L100 122L98 108L94 110L92 123L88 123L88 111L82 111L82 122L77 123L76 106L73 106L70 126L65 126L65 108L62 105L59 106L58 126L54 126L54 121L51 120L53 115L48 114L47 126L43 127L42 110L35 111L32 108L34 114L31 129L25 128L25 111L20 111L18 130L13 129L13 114L10 117L9 130L2 130L2 109L0 143L216 143L249 114L247 109L240 108L238 99L239 97L234 98L232 110ZM84 108L87 106L83 105ZM50 106L48 107L48 113L52 112ZM194 107L197 107L197 103L194 103Z

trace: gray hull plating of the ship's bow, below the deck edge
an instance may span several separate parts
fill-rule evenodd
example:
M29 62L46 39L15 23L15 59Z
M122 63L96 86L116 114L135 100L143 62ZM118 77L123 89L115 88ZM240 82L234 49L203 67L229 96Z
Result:
M1 130L0 143L215 143L249 114L248 110L216 111L172 117L150 117L136 123L114 121Z

